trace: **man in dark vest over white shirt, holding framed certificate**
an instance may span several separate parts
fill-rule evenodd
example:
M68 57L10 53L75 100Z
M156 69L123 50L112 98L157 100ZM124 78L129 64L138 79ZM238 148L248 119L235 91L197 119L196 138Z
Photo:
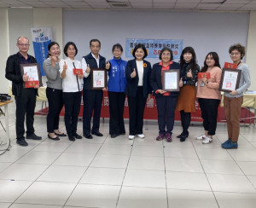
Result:
M92 135L103 136L99 131L100 129L100 117L102 110L102 90L91 90L90 87L90 69L92 68L105 68L106 59L99 55L101 49L101 42L98 39L90 40L90 54L86 55L82 59L82 68L85 71L84 75L84 114L83 114L83 131L84 137L92 139ZM93 125L90 130L90 120L93 114Z

